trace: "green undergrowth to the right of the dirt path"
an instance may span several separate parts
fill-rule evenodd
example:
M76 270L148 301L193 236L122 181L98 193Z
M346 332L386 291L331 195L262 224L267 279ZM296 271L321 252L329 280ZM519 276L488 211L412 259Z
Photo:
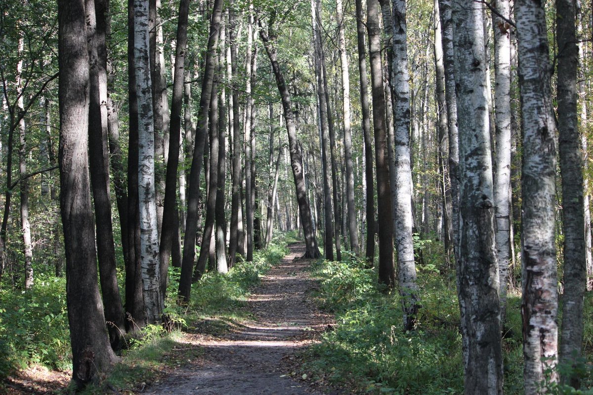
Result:
M346 386L361 394L462 394L463 364L455 271L439 258L442 246L426 243L417 264L422 307L415 330L403 331L400 297L377 283L376 268L345 254L343 262L318 261L313 274L320 282L315 297L336 316L336 325L304 354L317 380ZM585 345L591 350L593 306L585 303ZM503 336L505 394L523 393L521 297L508 297ZM559 319L560 322L560 319ZM584 361L587 362L587 361ZM589 361L591 362L591 361ZM583 387L591 383L586 365ZM317 373L315 373L317 372ZM550 393L577 394L566 388ZM587 392L588 393L588 392Z

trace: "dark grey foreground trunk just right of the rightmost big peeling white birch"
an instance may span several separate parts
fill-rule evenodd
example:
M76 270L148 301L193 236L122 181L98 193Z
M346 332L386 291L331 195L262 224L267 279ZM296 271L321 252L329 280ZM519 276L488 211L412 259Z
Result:
M558 47L558 144L562 175L562 221L564 228L564 298L560 362L574 365L581 357L583 342L583 303L586 290L585 213L583 204L583 158L578 130L575 3L556 1ZM565 384L578 388L575 371L562 375Z

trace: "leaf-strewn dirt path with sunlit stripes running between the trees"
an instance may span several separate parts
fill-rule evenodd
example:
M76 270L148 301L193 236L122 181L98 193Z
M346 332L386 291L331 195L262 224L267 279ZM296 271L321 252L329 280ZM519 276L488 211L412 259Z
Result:
M298 259L304 245L289 246L291 252L262 277L248 299L254 320L238 333L222 338L190 336L190 344L203 348L198 361L178 368L148 394L301 395L321 392L309 388L300 374L286 375L283 359L313 341L330 317L308 298L315 288L306 268L310 261ZM335 390L331 392L337 394Z

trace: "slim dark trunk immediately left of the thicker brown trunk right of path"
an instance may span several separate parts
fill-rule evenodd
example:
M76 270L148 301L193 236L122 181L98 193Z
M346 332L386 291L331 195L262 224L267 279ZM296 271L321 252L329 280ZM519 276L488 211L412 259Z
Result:
M372 265L375 259L375 188L372 172L371 115L368 101L368 76L366 74L365 24L362 0L356 0L356 37L358 39L358 71L361 84L362 136L365 151L366 181L366 261Z

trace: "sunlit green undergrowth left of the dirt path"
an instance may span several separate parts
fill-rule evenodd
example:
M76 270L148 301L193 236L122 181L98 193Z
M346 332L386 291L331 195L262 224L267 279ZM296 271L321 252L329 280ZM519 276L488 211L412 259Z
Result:
M183 331L220 335L240 325L248 318L244 307L250 288L288 253L287 239L291 237L278 234L266 249L254 252L253 262L239 259L228 274L206 273L192 285L187 306L177 304L180 270L171 267L165 309L170 325L148 325L126 336L126 349L108 380L87 392L103 393L106 385L131 388L132 383L141 383L164 365L185 361L188 352L195 350L176 356L176 349L187 348L178 342ZM123 271L119 274L122 286ZM123 288L120 292L125 295ZM37 273L31 290L0 290L0 392L2 380L17 370L33 364L69 370L71 358L65 278Z

